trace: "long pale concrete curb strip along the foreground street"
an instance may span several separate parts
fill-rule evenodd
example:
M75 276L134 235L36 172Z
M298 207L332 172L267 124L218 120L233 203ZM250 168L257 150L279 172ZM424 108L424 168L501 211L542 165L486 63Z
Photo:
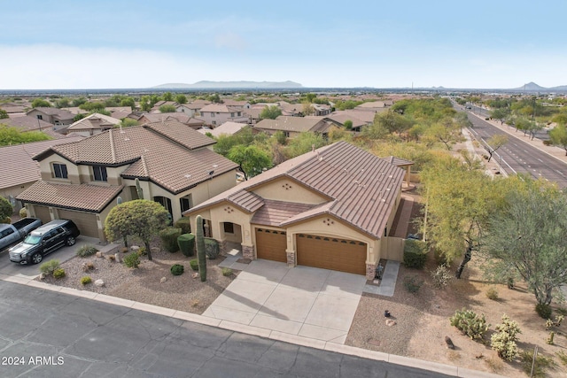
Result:
M182 312L157 305L148 305L141 302L131 301L119 297L111 297L105 294L93 293L92 291L71 289L62 286L50 285L45 282L37 282L34 278L24 278L19 276L11 276L7 274L0 274L0 281L17 283L19 285L26 285L36 289L45 289L62 294L71 295L74 297L82 297L98 302L106 303L109 305L120 305L122 307L151 312L159 315L167 316L169 318L190 321L193 323L203 324L209 327L222 328L229 331L239 332L246 335L260 336L271 340L281 341L284 343L292 343L295 345L306 346L310 348L320 349L322 351L335 351L338 353L346 354L349 356L356 356L362 359L374 359L376 361L385 361L400 366L416 367L431 372L441 374L453 375L462 378L498 378L502 375L491 374L487 372L480 372L476 370L467 369L459 366L452 366L441 364L438 362L425 361L422 359L412 359L395 354L388 354L381 351L369 351L362 348L353 347L350 345L326 342L323 340L311 339L308 337L286 334L280 331L270 330L266 328L258 328L247 326L240 323L235 323L229 320L217 320L208 318L203 315L198 315L190 312Z

